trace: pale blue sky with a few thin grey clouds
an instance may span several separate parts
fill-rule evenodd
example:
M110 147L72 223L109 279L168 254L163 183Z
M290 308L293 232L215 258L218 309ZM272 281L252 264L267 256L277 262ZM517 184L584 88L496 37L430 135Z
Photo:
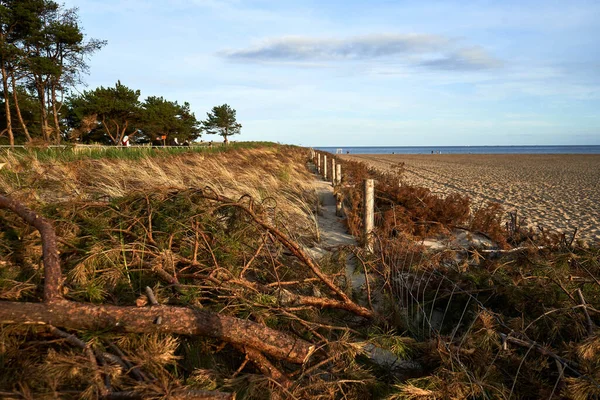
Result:
M89 90L229 104L234 140L600 145L600 1L67 0ZM203 139L215 139L204 136Z

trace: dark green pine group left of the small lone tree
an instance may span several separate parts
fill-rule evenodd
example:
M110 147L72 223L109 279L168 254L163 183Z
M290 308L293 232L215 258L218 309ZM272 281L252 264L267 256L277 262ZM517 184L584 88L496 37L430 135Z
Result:
M190 105L112 87L73 94L86 60L106 41L87 39L77 9L48 0L0 0L0 144L184 143L200 136Z

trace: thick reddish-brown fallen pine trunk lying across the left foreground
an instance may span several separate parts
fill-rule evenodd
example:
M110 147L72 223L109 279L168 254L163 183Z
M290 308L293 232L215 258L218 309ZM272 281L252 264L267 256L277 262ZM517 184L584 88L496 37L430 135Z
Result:
M315 347L252 321L200 309L119 307L67 300L48 303L0 301L0 324L49 324L64 329L201 335L250 346L277 359L304 363Z

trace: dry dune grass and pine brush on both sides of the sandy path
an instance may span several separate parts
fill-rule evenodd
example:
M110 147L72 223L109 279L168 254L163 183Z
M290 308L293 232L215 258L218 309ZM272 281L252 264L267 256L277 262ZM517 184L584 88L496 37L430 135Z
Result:
M344 163L344 182L335 190L345 197L346 223L357 236L362 180L377 179L376 244L374 252L338 250L319 268L367 304L369 292L350 287L345 273L347 256L355 256L357 270L369 273L378 310L376 318L362 319L323 307L323 301L339 305L339 296L265 228L300 248L317 242L307 151L272 144L175 150L134 158L11 153L3 159L0 191L53 222L69 300L146 307L150 287L165 306L253 321L319 350L299 366L260 361L206 337L69 332L96 351L117 348L148 376L140 381L108 363L100 373L116 390L142 398L218 390L242 399L600 394L598 249L509 229L494 205L472 212L468 198L399 187L398 174ZM0 299L39 302L39 236L5 210L0 223ZM492 237L498 252L435 253L420 245L452 235L458 225ZM436 314L443 314L439 325L431 320ZM382 367L365 344L423 368L409 375ZM284 378L265 372L264 360ZM0 396L99 398L98 373L85 353L43 326L0 327Z

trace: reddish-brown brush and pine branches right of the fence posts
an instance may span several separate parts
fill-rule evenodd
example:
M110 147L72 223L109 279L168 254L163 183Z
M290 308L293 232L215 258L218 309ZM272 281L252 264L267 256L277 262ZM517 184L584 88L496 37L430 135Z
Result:
M510 218L505 224L499 204L472 209L467 196L399 185L402 168L342 165L355 235L362 229L363 180L376 180L368 261L395 300L389 315L420 345L430 341L421 359L430 371L397 385L389 399L597 398L600 249L533 235ZM418 246L423 238L443 243L457 227L485 233L498 250ZM568 367L557 367L557 357Z

